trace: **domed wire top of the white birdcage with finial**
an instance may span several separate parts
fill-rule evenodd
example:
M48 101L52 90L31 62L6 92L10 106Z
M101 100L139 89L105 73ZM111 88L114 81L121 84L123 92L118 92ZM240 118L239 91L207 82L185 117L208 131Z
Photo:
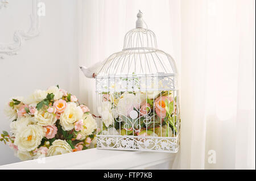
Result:
M113 53L97 72L97 77L134 74L176 74L176 64L170 54L159 50L155 33L144 28L142 12L137 14L136 28L126 33L123 49Z

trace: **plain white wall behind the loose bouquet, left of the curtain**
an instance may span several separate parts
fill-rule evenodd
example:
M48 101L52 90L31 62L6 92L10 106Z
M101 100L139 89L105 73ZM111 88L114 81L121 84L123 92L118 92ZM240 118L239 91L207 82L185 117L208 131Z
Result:
M29 2L31 4L31 0L26 0L27 4ZM79 95L77 1L42 2L46 5L46 16L40 17L40 35L26 41L18 55L0 59L0 131L10 131L10 120L5 117L3 108L11 96L27 96L35 89L47 89L52 85L59 85L72 94ZM0 44L12 40L15 22L22 22L25 17L18 15L28 15L26 10L13 6L15 3L16 1L9 1L9 7L5 9L13 13L13 16L5 19L8 21L10 18L9 23L0 22ZM0 20L1 15L3 14L0 12ZM18 21L14 18L18 18ZM0 151L0 165L19 162L14 157L13 150L3 142L0 142Z

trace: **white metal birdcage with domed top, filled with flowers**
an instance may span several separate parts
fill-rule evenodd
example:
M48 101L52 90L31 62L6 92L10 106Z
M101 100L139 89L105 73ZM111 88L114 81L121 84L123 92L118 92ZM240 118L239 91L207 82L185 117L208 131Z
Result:
M127 32L123 50L96 73L97 148L179 150L180 110L174 59L157 48L154 32Z

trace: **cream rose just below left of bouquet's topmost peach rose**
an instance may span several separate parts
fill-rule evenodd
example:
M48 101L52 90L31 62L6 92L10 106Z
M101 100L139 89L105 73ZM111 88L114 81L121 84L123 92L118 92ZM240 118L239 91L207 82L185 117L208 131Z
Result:
M53 125L57 118L53 113L49 113L46 110L36 110L34 113L35 120L38 121L38 125L47 126Z

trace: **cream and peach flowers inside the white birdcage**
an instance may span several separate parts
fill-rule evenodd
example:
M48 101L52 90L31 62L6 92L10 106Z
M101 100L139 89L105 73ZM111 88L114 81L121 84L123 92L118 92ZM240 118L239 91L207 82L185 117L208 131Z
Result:
M101 92L98 134L173 137L177 135L173 91Z

